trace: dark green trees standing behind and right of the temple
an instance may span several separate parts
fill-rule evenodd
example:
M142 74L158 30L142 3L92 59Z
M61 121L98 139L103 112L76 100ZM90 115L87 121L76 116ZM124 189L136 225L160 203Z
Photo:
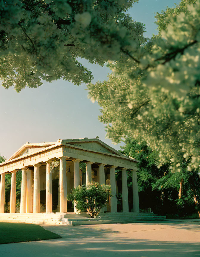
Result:
M187 163L182 162L181 172L171 173L169 166L165 163L158 164L158 151L146 145L146 142L138 144L136 140L128 138L121 151L124 155L139 160L137 164L137 183L142 211L153 211L169 217L180 217L192 215L195 209L199 209L200 200L200 178L198 170L189 172ZM131 173L127 173L128 181L132 181ZM182 195L179 197L180 181L183 179ZM131 186L129 191L131 191ZM194 202L196 195L197 204ZM129 194L132 195L131 193Z

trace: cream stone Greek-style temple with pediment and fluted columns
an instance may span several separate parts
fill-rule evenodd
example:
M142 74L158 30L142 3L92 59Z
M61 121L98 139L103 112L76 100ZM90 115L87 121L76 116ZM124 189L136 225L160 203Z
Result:
M79 165L80 162L82 165ZM16 211L16 173L19 170L22 170L20 213L76 212L67 195L73 188L93 181L111 185L113 197L104 211L117 212L115 169L121 170L123 212L129 212L126 170L132 170L132 211L139 212L137 162L99 138L59 139L57 142L34 144L27 142L10 159L0 163L0 213L5 210L7 173L12 174L10 213ZM85 173L81 166L86 166Z

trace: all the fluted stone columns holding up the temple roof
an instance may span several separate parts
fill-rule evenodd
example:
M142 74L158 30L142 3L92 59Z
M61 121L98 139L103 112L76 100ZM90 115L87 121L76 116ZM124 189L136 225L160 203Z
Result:
M66 157L60 157L60 212L67 212L67 176L66 176ZM74 188L79 186L79 162L80 159L74 160ZM92 164L93 162L86 162L86 184L92 181ZM40 212L40 165L34 165L34 182L33 182L33 212ZM105 184L104 166L106 164L99 164L99 184ZM112 188L111 198L111 212L117 212L117 197L116 197L116 182L115 182L115 168L110 167L110 184ZM32 189L31 170L23 167L21 180L21 202L20 212L32 212ZM16 205L16 170L12 171L11 177L11 192L10 192L10 213L15 212ZM132 185L133 185L133 211L139 212L139 197L137 188L137 174L136 170L132 170ZM0 184L0 213L4 212L5 202L5 174L1 174ZM128 187L126 168L122 169L122 205L123 212L129 211L128 204ZM76 203L74 203L74 210L76 211ZM52 171L51 160L46 161L46 212L52 212Z

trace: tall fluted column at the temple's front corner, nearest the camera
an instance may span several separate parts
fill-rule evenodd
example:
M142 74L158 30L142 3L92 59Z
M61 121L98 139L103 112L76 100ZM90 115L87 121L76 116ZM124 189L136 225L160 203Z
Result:
M67 171L66 157L60 157L60 212L67 212Z

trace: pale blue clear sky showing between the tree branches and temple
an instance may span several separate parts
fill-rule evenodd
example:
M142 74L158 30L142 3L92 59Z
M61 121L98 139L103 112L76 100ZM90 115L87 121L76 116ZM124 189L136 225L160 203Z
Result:
M135 21L146 24L146 36L157 34L154 12L174 6L175 0L139 0L128 11ZM179 4L180 1L176 1ZM99 65L84 64L92 70L93 83L107 80L110 70ZM9 158L27 141L53 142L70 138L95 138L119 150L120 145L112 145L105 139L103 123L98 120L100 107L87 99L85 84L77 87L72 83L57 80L44 82L37 88L26 88L16 93L13 88L0 86L0 153Z

